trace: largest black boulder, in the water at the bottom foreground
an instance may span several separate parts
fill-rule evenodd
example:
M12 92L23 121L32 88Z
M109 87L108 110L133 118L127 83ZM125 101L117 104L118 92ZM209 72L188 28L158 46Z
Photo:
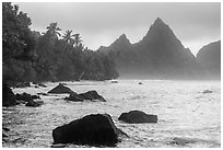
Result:
M52 130L54 143L115 147L125 135L108 114L92 114Z

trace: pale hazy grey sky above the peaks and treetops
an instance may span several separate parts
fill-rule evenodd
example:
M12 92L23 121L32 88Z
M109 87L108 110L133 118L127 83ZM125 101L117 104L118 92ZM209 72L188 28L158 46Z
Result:
M15 2L14 2L15 3ZM20 10L32 19L32 30L45 32L51 22L80 33L90 49L108 46L122 33L137 43L156 18L171 26L193 54L221 38L221 3L59 3L20 2Z

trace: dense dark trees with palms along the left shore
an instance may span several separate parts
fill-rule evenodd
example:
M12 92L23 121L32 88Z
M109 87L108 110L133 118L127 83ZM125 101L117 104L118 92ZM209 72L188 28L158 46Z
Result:
M80 34L57 23L46 33L31 31L31 19L17 5L2 3L3 81L107 80L118 77L111 57L87 49Z

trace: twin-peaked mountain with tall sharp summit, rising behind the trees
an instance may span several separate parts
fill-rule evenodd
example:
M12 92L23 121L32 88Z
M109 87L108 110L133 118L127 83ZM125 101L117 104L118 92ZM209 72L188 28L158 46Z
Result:
M206 71L189 48L185 48L172 28L157 18L145 36L131 44L122 34L108 47L120 78L204 79Z

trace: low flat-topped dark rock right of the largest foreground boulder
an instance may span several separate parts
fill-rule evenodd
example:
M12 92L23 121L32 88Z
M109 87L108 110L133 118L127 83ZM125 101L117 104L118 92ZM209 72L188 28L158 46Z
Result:
M122 113L118 119L129 124L157 123L156 115L148 115L141 111L130 111L129 113Z

